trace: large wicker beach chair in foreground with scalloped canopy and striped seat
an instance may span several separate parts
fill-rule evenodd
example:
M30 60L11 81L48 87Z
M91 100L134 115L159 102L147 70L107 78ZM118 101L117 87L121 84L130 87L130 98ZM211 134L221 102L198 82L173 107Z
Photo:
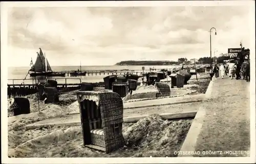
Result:
M123 102L109 91L79 91L83 145L109 153L124 145Z

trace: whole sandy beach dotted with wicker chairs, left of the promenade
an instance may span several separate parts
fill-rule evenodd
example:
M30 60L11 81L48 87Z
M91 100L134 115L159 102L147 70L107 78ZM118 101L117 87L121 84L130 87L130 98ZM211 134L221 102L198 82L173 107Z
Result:
M204 94L209 78L207 73L201 73L196 80L194 75L188 84L182 88L185 91L196 90L188 95ZM102 90L95 88L94 90ZM154 86L138 86L136 94L147 98L148 92L157 92ZM172 91L172 94L179 93ZM11 117L8 112L8 146L9 157L171 157L174 151L179 151L191 125L192 119L164 120L161 113L178 113L197 111L200 102L176 105L164 105L124 110L124 117L136 115L152 115L139 120L137 123L123 123L123 136L126 145L109 154L85 148L82 144L81 126L49 126L26 130L24 126L49 118L66 117L69 113L79 111L76 92L72 91L59 95L59 102L44 104L40 102L38 112L35 94L26 96L30 100L31 114ZM144 93L144 97L143 97ZM126 102L124 102L126 103Z

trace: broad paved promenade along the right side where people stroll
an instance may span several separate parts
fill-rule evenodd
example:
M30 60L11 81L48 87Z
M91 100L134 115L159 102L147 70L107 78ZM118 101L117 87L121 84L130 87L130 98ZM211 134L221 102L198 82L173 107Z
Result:
M202 116L193 121L195 130L189 130L186 140L190 142L184 142L182 151L201 152L190 156L250 156L250 83L226 77L212 81L209 90L198 111Z

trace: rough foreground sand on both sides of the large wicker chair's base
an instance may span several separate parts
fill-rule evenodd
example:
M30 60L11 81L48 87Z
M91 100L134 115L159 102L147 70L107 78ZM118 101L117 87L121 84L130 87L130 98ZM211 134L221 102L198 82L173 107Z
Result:
M159 115L124 124L126 146L110 154L83 147L81 126L39 136L8 153L9 157L170 157L180 150L190 124L191 120L168 121Z

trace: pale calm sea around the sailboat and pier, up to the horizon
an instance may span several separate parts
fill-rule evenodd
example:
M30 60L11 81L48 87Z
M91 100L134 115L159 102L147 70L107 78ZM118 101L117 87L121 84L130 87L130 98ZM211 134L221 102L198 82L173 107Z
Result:
M103 71L103 70L133 70L134 72L142 72L142 67L144 67L145 72L148 72L146 70L150 70L150 68L154 69L168 69L171 70L173 68L177 68L180 66L177 65L169 65L169 66L81 66L82 71ZM53 71L74 71L79 69L80 66L51 66ZM30 67L8 67L8 84L35 84L35 80L33 77L30 77L28 74L28 70ZM122 72L124 74L125 71ZM27 77L26 77L27 75ZM111 75L111 74L110 74ZM78 84L81 82L87 82L87 83L98 83L98 82L103 82L103 77L108 76L108 74L101 75L86 75L86 76L76 76L76 77L70 77L68 74L66 74L66 77L48 77L51 79L57 80L58 84L65 84L65 81L67 83L72 83L72 84ZM26 80L24 80L26 77ZM40 78L40 77L37 77ZM66 78L66 80L65 80ZM15 80L13 80L15 79Z

